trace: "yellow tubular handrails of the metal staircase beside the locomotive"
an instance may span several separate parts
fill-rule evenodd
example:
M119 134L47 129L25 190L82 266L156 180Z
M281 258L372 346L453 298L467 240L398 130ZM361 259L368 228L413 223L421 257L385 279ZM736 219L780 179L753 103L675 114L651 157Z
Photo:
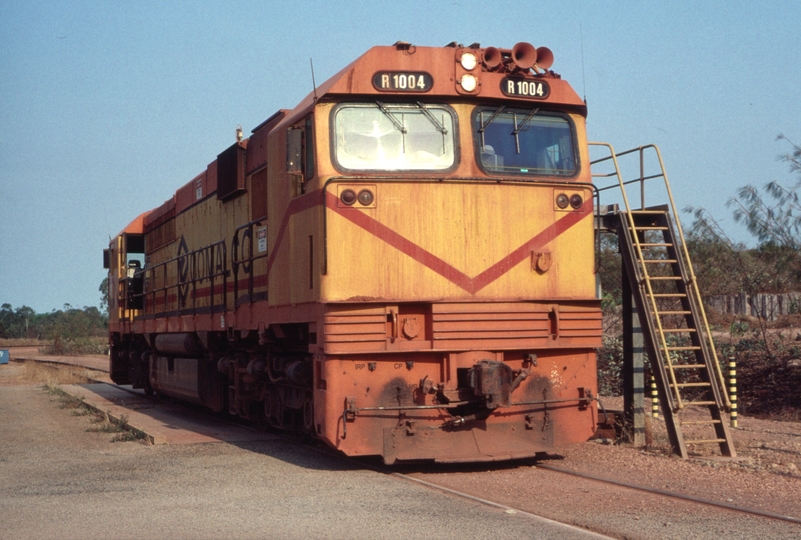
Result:
M605 191L607 189L611 189L611 188L614 188L614 187L617 187L617 188L620 189L620 193L621 193L621 195L623 197L623 203L624 203L624 205L626 207L626 215L627 215L627 219L629 221L629 227L631 228L632 231L634 231L634 218L633 218L633 216L631 214L631 205L629 204L628 195L626 193L626 186L634 184L634 183L639 183L640 184L640 209L644 210L646 208L646 206L645 206L645 182L646 182L646 180L652 180L652 179L656 179L656 178L662 178L664 180L665 190L667 191L668 200L669 200L669 204L670 204L670 213L672 214L672 217L673 217L673 219L674 219L674 221L676 223L676 228L679 231L679 243L681 244L681 250L682 250L683 259L685 261L687 261L687 263L688 263L688 264L686 264L684 266L686 266L686 270L688 271L689 282L690 282L690 286L692 287L693 294L694 294L695 298L698 299L697 306L698 306L698 309L699 309L700 314L701 314L702 322L704 324L704 331L701 332L701 333L704 334L703 339L706 341L707 347L708 347L709 351L712 354L712 359L714 361L713 363L715 365L715 374L717 375L717 378L718 378L718 386L719 386L719 389L721 390L721 395L723 396L723 399L724 399L724 401L726 403L726 406L727 407L731 407L731 401L729 400L729 396L728 396L728 392L727 392L727 388L726 388L726 381L725 381L725 378L723 377L723 373L722 373L722 371L720 369L720 362L718 360L717 351L715 349L714 341L712 340L712 333L709 330L709 321L708 321L707 316L706 316L706 310L704 309L704 303L701 301L701 292L698 289L698 281L696 279L695 271L693 269L693 265L692 265L692 262L691 262L691 259L690 259L690 252L687 249L687 242L686 242L685 237L684 237L684 230L683 230L683 228L681 226L681 221L679 219L679 213L676 210L676 203L675 203L675 200L673 198L673 191L672 191L672 189L670 187L670 182L668 180L667 172L665 171L665 164L664 164L664 161L662 160L662 154L659 151L659 148L654 144L648 144L648 145L645 145L645 146L638 146L638 147L631 148L629 150L626 150L626 151L623 151L623 152L620 152L620 153L616 153L614 148L612 147L612 145L608 144L608 143L590 142L590 143L588 143L588 145L589 146L606 147L609 150L609 155L608 156L600 158L600 159L596 159L594 161L591 161L590 162L590 166L592 167L592 165L612 160L612 163L614 164L614 172L608 173L608 174L592 174L592 177L593 178L617 177L617 180L618 180L618 182L617 182L618 185L617 186L615 186L614 184L612 184L610 186L604 186L604 187L598 188L598 191L599 192L600 191ZM652 174L652 175L646 176L645 175L645 157L644 157L644 155L645 155L645 151L648 150L648 149L653 149L654 152L656 153L656 157L657 157L657 159L659 161L659 169L660 169L661 172L658 173L658 174ZM622 177L622 175L620 173L620 166L618 164L618 157L625 156L625 155L628 155L628 154L633 154L635 152L637 152L639 154L639 158L640 158L639 159L639 161L640 161L640 176L638 178L634 178L632 180L624 181L623 177ZM642 246L640 245L639 236L637 234L634 234L633 236L634 236L634 244L635 244L635 247L636 247L636 250L637 250L637 256L639 257L640 260L643 260ZM653 290L651 288L650 280L648 279L648 270L647 270L647 268L645 268L644 265L641 265L641 266L642 266L642 272L643 272L643 274L645 276L645 283L646 283L646 287L648 288L648 295L649 295L649 298L651 299L652 308L654 309L654 312L656 312L656 309L657 309L656 299L653 296ZM668 351L668 345L667 345L667 342L665 340L665 332L664 332L664 330L662 328L662 323L659 320L659 317L656 317L656 322L657 322L657 326L658 326L658 330L659 330L660 340L662 342L662 348L663 348L663 351L665 353L665 358L667 359L667 364L668 364L668 368L669 368L670 377L671 377L671 380L673 381L674 388L677 388L675 386L675 384L676 384L676 375L675 375L675 372L673 370L673 364L672 364L672 362L670 360L670 354L669 354L669 351ZM682 408L681 396L680 396L679 392L675 392L675 396L676 396L676 399L678 401L678 407Z

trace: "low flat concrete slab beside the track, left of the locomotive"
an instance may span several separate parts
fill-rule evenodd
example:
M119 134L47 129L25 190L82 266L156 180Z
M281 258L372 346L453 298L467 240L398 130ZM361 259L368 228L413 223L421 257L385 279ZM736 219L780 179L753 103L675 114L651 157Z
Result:
M139 390L113 384L62 385L68 394L145 434L151 444L276 440L275 435L215 420L188 407L155 402Z

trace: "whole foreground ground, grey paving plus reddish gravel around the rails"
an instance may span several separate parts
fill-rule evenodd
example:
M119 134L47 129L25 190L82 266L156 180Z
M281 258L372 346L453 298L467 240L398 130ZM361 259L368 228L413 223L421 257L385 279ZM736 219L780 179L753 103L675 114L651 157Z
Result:
M32 378L19 366L0 367L3 538L580 534L549 532L523 514L407 485L358 461L321 457L278 439L180 447L110 443L108 434L87 433L88 421L59 409L31 386ZM801 424L741 417L733 430L737 460L683 461L665 453L661 422L653 421L651 431L648 449L586 443L558 449L547 460L401 472L617 538L801 538L801 525L545 468L801 518Z

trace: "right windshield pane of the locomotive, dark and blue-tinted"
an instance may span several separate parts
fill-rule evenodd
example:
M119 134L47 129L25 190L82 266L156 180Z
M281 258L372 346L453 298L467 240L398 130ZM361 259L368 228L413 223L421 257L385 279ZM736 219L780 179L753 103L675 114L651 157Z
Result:
M473 133L481 167L490 173L573 176L573 126L538 109L478 109Z

